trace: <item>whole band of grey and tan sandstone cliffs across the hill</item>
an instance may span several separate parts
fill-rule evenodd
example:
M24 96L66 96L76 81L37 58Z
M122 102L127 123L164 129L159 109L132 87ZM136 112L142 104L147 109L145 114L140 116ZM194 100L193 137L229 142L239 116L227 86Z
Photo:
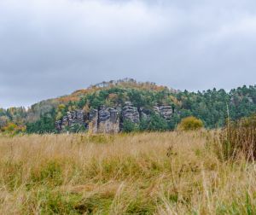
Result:
M55 122L58 131L82 131L88 129L91 133L118 133L122 130L125 120L139 124L142 119L149 119L152 113L160 114L166 121L172 119L172 106L160 105L153 109L140 108L138 110L131 102L116 108L102 106L98 109L90 109L90 113L83 110L67 112L61 119Z

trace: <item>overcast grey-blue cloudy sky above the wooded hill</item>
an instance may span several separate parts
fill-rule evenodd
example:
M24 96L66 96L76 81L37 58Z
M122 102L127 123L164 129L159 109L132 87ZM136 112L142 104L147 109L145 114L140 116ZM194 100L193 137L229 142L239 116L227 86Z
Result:
M120 78L230 90L255 56L255 0L0 0L3 108Z

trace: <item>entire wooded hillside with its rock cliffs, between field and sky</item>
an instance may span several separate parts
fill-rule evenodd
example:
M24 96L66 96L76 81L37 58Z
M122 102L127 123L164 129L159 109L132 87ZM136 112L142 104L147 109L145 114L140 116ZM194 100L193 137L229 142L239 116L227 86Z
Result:
M132 116L128 117L124 108ZM6 131L11 123L13 130L30 133L86 131L96 112L102 113L105 127L112 126L110 115L116 113L117 131L173 130L181 119L190 115L201 119L207 128L216 128L224 125L228 113L230 119L240 119L255 111L256 86L243 86L230 92L216 89L189 92L125 78L38 102L28 110L0 109L0 128ZM101 120L100 116L95 120Z

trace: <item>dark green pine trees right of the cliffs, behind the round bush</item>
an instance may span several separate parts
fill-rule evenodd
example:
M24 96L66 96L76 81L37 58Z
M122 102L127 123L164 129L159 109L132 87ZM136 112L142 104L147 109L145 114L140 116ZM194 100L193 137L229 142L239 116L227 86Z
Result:
M203 92L184 91L177 94L181 102L177 110L179 118L193 115L204 122L207 128L217 128L225 124L228 114L236 120L256 112L256 86L243 86L236 90L207 90Z

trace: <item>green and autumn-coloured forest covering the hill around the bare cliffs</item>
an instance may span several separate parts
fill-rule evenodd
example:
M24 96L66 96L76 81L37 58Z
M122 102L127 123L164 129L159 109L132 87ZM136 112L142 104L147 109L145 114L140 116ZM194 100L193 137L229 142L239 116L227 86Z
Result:
M175 91L152 83L137 83L126 80L121 84L102 84L102 87L90 87L90 90L76 91L71 96L76 99L65 102L63 97L55 100L39 102L26 110L25 108L0 109L1 131L45 133L56 132L55 120L61 119L67 111L98 108L102 105L117 107L125 102L132 102L137 108L153 109L154 105L170 105L173 109L172 120L165 122L158 116L150 117L150 124L142 122L140 131L163 131L174 129L181 119L195 116L203 121L207 128L224 126L228 116L230 119L241 119L256 112L256 86L243 86L236 90L207 90L198 92ZM79 94L78 94L79 92ZM81 93L84 92L84 93ZM16 125L18 131L13 128ZM22 129L21 129L22 128ZM126 129L131 130L127 123Z

